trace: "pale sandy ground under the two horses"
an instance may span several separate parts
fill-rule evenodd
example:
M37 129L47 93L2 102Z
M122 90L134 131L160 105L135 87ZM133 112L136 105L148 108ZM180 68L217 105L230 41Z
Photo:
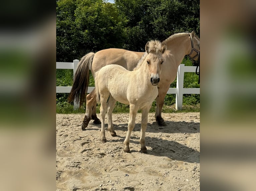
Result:
M158 126L149 113L145 144L140 152L141 113L123 152L128 113L113 114L116 137L90 121L82 131L84 114L56 114L56 190L200 190L200 113L162 113L167 126ZM98 115L99 117L99 115ZM105 119L107 123L107 119Z

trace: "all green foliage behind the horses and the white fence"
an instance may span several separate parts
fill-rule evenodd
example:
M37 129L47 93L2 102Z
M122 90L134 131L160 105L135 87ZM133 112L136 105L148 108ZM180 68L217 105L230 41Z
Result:
M200 36L199 14L199 0L56 0L56 61L72 62L107 48L144 51L148 40L178 32L194 30ZM183 63L191 65L188 59ZM72 71L57 70L56 86L72 86L72 78ZM188 73L184 87L198 88L197 82L198 76ZM66 98L57 94L57 105L66 104ZM186 101L197 104L200 95L184 95ZM166 95L165 104L174 102L174 95Z

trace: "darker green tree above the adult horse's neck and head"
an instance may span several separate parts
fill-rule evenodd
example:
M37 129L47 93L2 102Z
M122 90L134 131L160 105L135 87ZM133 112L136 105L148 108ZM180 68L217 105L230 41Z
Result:
M200 33L200 1L116 0L121 16L127 20L124 49L144 50L150 39L164 40L177 32Z

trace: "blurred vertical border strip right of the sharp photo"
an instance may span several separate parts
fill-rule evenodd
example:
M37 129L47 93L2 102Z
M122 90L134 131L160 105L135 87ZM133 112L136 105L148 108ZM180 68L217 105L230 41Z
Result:
M201 190L255 190L256 1L201 1Z

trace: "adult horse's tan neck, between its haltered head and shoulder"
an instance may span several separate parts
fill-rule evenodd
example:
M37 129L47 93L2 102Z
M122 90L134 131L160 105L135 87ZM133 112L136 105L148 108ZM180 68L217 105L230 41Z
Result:
M189 43L190 41L188 35L176 37L167 42L167 50L169 51L166 51L166 53L172 55L173 59L175 60L176 67L180 65L185 55L190 53L189 51L191 47Z

